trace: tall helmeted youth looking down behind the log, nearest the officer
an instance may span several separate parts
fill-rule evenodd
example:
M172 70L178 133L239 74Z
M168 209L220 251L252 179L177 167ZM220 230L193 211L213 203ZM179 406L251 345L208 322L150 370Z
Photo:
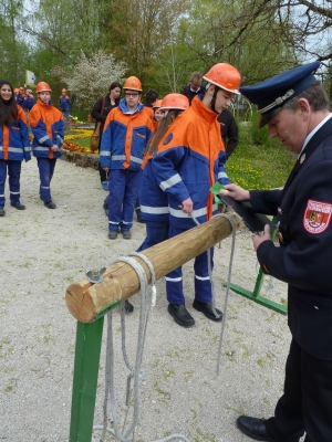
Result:
M170 238L217 213L209 189L216 181L229 183L217 117L239 93L241 76L234 66L218 63L204 80L208 82L205 96L194 97L189 109L174 122L152 161L156 180L168 196ZM194 267L193 307L208 319L219 322L222 313L212 303L207 252L196 256ZM180 326L193 327L195 320L185 306L181 267L166 276L166 292L168 313Z

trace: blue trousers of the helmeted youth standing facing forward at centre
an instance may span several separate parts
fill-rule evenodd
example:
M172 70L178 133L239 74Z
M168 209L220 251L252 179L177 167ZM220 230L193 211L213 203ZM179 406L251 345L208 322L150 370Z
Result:
M132 229L141 177L139 171L128 169L110 171L108 230Z

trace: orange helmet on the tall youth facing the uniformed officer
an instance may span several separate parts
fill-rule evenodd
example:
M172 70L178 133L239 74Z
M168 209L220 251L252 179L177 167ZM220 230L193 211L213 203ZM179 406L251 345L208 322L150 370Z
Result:
M239 94L241 75L236 67L228 63L215 64L203 77L215 86L221 87L232 94Z

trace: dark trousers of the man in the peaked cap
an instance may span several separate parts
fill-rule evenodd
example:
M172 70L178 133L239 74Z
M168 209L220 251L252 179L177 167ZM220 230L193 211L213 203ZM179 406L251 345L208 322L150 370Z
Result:
M304 351L294 339L286 364L284 392L266 428L278 442L332 441L332 360Z

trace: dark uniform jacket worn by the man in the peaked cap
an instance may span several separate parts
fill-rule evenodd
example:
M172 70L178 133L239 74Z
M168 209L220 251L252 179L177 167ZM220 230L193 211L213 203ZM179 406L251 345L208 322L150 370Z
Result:
M277 214L280 248L257 255L264 273L289 284L288 324L309 354L332 359L332 119L309 140L283 190L251 191L255 212Z

